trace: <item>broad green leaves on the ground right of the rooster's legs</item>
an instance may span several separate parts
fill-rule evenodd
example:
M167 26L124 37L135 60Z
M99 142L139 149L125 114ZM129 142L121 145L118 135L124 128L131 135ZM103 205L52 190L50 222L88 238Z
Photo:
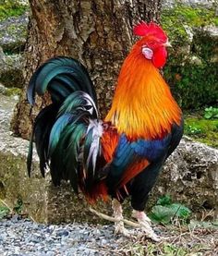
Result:
M150 217L156 223L170 224L174 219L186 223L190 214L188 207L172 202L170 196L165 195L152 207Z

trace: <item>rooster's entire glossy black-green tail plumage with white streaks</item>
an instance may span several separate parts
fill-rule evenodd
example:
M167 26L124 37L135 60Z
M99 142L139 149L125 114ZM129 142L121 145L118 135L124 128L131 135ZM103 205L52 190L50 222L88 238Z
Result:
M35 140L43 177L49 166L56 186L66 179L75 192L83 186L89 193L101 154L102 130L90 76L79 61L56 57L31 77L27 93L30 104L34 104L35 93L42 95L46 90L53 104L43 108L35 119L27 160L29 176Z

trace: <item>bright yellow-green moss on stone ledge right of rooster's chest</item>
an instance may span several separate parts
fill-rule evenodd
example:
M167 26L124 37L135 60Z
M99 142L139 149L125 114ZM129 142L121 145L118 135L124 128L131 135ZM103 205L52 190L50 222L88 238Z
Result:
M194 140L218 148L218 119L208 120L201 116L187 116L185 134Z

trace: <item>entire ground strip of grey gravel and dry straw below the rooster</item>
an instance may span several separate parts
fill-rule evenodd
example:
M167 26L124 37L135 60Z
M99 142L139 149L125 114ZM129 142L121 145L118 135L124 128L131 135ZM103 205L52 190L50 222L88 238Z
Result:
M154 229L162 237L158 243L144 236L115 236L112 225L45 225L14 215L0 221L0 255L218 255L218 228L215 225L210 228L154 226ZM139 230L136 231L140 235Z

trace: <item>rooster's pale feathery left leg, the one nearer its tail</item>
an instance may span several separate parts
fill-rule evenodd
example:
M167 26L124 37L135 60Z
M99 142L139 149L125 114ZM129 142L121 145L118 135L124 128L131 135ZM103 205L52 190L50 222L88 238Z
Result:
M121 203L114 199L112 201L112 209L114 211L115 219L117 220L115 222L115 234L123 234L124 236L129 237L130 233L124 226L123 209Z

